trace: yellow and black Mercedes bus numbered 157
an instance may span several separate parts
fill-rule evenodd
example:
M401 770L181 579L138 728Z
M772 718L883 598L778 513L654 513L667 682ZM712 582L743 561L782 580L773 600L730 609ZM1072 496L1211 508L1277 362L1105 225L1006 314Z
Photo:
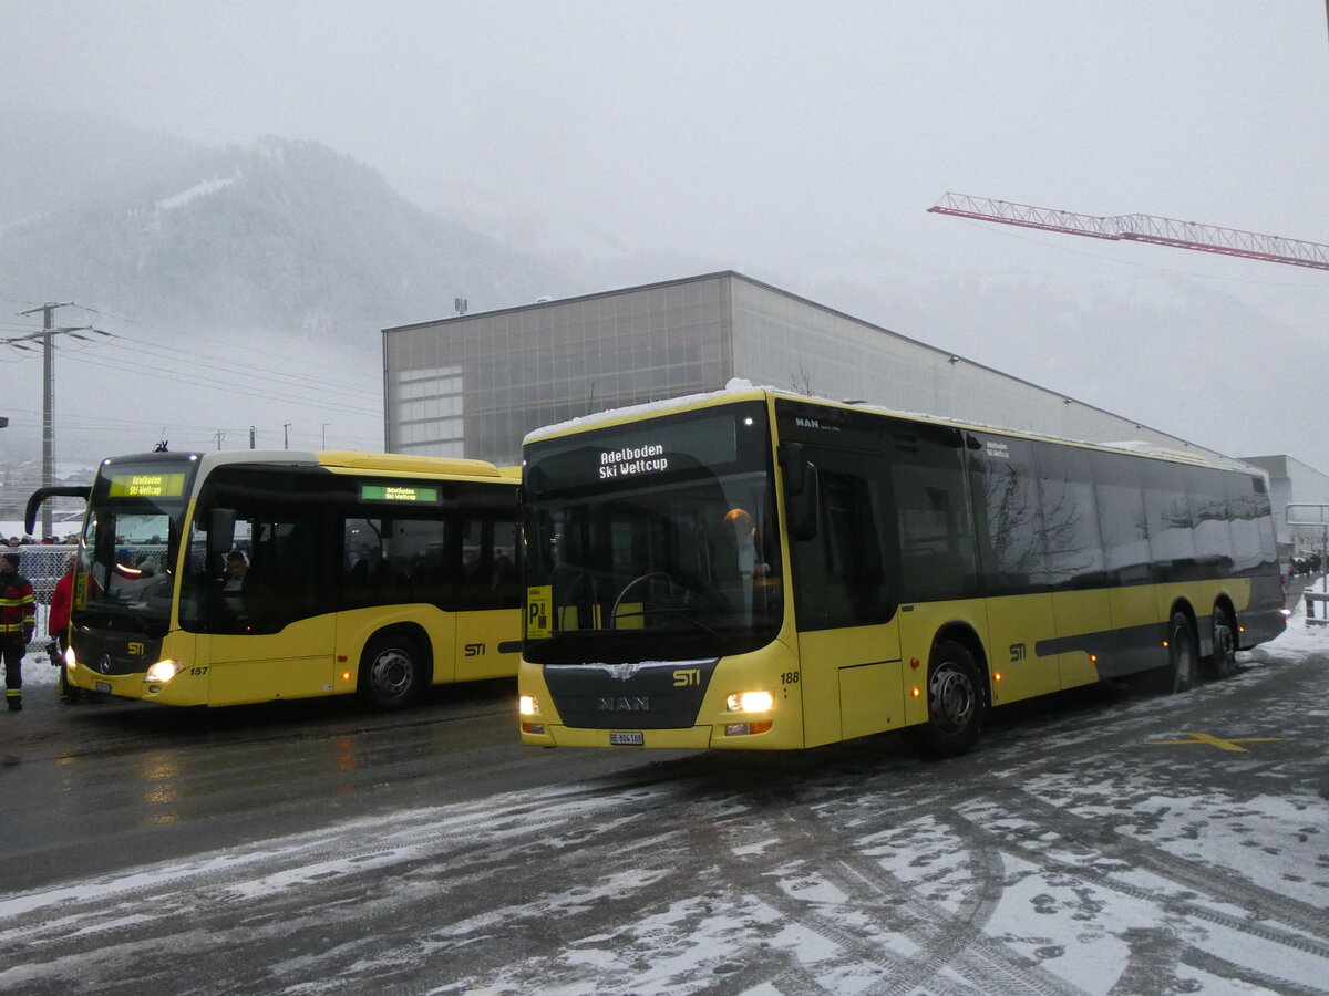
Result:
M352 452L146 453L101 463L74 567L72 684L170 705L510 677L520 470Z

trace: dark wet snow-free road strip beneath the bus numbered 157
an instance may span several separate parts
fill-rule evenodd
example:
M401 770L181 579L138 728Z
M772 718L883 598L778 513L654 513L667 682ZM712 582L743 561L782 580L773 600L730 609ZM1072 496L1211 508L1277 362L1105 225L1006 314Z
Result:
M4 887L639 762L524 748L514 703L512 680L436 688L397 714L350 699L218 710L65 705L53 687L29 688L21 713L0 713Z

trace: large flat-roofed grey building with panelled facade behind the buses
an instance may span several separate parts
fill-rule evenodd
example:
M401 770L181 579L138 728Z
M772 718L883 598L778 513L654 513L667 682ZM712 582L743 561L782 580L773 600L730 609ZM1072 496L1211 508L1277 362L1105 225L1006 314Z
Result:
M740 274L383 331L388 452L521 459L522 437L732 377L1094 442L1212 454Z

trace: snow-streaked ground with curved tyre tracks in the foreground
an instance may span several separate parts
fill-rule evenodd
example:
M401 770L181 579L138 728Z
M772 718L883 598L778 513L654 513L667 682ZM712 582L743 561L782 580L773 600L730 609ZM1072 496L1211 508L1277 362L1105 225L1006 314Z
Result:
M56 883L0 898L0 991L1329 992L1326 659L1297 618L952 762L695 756ZM1167 746L1200 706L1245 748Z

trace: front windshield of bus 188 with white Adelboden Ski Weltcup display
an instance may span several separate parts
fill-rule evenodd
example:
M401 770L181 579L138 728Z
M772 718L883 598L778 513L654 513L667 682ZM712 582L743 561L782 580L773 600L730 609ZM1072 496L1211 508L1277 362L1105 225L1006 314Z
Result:
M744 402L533 442L528 627L540 664L742 653L783 619L766 408Z

